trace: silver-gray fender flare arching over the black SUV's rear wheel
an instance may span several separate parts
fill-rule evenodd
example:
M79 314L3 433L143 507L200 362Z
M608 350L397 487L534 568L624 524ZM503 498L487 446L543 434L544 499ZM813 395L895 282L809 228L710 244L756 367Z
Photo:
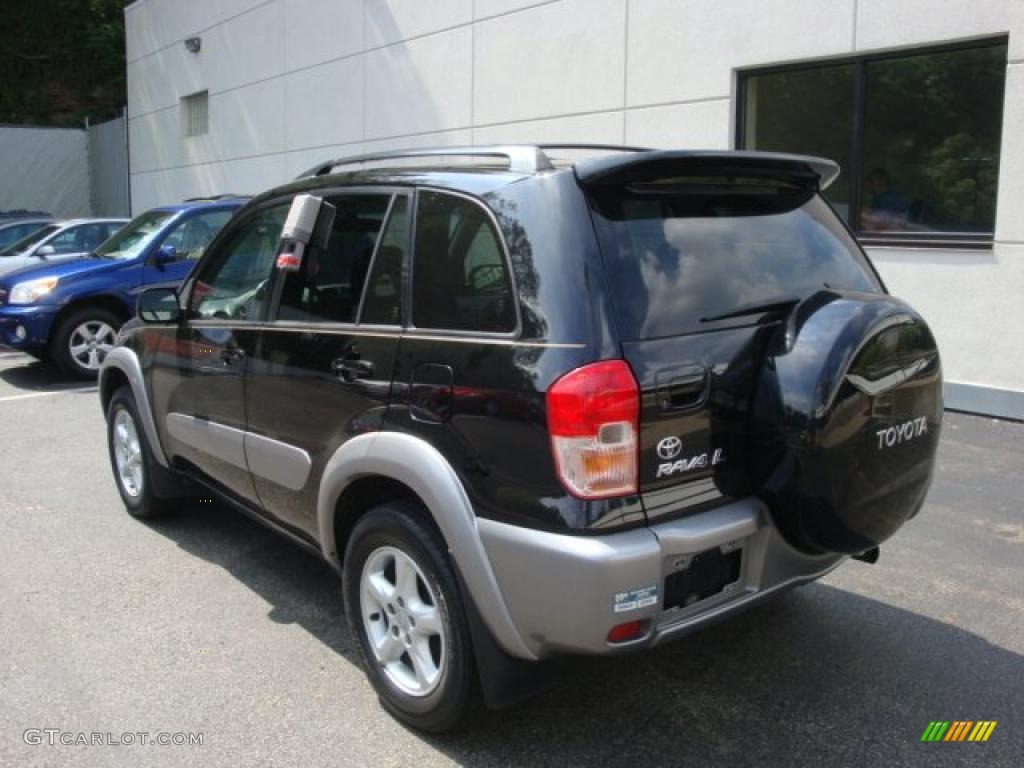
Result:
M455 470L430 443L401 432L371 432L347 440L324 469L316 502L321 546L341 568L334 543L338 499L353 480L382 475L408 485L427 506L444 537L470 596L495 639L507 653L535 660L505 605L490 559L483 549L476 514Z

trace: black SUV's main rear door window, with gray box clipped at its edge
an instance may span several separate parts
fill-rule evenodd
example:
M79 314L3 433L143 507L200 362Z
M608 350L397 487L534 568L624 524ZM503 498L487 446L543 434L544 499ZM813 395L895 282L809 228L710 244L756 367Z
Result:
M327 200L335 206L335 216L326 247L312 245L302 257L302 266L287 273L280 319L355 322L391 197L346 195Z

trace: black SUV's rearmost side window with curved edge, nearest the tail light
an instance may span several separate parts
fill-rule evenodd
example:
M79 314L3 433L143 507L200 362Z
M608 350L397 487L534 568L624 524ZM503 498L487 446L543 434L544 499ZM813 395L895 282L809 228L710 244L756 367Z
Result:
M478 204L454 195L420 193L414 258L417 327L515 330L508 264L490 218Z

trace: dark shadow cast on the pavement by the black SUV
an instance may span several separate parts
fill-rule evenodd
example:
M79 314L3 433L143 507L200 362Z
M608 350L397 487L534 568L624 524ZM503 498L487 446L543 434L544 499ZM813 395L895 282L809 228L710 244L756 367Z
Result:
M272 621L358 664L326 564L201 507L152 526L256 592ZM417 736L464 766L1018 766L1022 682L1018 653L818 583L647 653L567 660L551 691L465 732ZM999 725L984 744L922 743L933 720Z

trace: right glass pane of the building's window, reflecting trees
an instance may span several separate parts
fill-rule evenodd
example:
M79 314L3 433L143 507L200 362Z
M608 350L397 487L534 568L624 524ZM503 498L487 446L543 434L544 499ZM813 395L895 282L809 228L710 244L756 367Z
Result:
M864 231L991 232L1006 46L869 61Z

